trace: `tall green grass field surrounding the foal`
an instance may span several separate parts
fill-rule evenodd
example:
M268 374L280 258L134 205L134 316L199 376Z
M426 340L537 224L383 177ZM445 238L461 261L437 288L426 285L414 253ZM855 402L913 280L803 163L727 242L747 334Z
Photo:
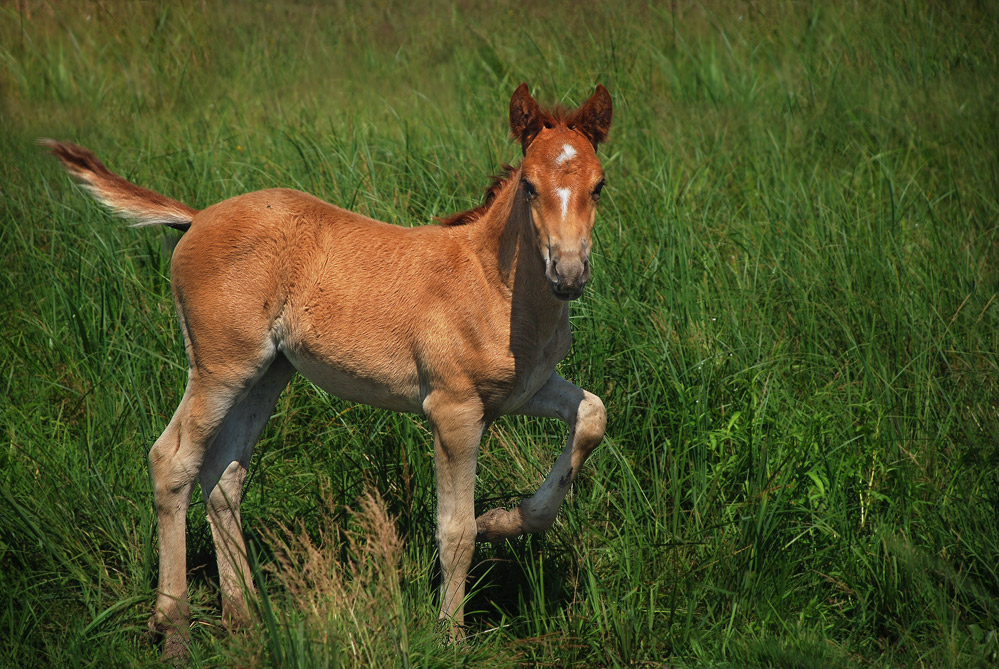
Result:
M292 186L416 225L519 157L521 81L614 98L561 366L606 441L551 531L480 547L446 647L425 423L296 380L247 487L248 634L219 625L195 499L194 662L996 662L988 3L408 5L0 7L0 664L156 662L145 454L186 374L176 234L126 228L34 139L194 206ZM481 510L533 491L562 435L493 426Z

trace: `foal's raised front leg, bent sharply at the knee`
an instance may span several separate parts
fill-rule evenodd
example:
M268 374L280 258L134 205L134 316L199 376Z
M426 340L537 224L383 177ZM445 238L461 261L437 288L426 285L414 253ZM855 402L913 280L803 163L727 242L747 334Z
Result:
M534 495L513 509L493 509L476 519L479 541L503 541L552 526L579 468L604 436L607 413L600 398L558 374L517 413L558 418L569 426L565 448Z

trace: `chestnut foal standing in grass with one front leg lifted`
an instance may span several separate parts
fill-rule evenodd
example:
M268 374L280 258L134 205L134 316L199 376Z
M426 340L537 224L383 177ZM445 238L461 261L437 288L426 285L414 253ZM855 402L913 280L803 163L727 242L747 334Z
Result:
M524 159L485 203L402 228L294 190L240 195L198 211L125 181L90 151L42 140L98 200L136 225L186 230L171 284L190 364L180 406L149 453L160 572L151 629L164 654L188 638L186 515L201 484L223 619L245 623L252 592L240 526L254 443L295 371L327 392L424 414L434 434L440 618L461 634L478 537L551 526L604 434L600 399L555 373L572 341L570 300L590 277L604 184L603 86L579 109L545 110L521 84L510 129ZM559 418L565 449L534 496L475 517L479 442L504 414Z

